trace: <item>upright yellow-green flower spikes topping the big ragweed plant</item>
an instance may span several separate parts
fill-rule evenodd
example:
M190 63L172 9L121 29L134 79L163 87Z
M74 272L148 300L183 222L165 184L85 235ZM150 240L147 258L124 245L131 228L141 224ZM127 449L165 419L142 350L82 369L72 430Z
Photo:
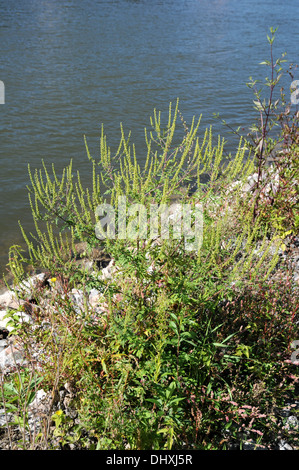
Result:
M200 203L207 211L211 206L211 199L218 195L216 210L221 212L222 220L206 223L208 229L204 229L211 237L207 243L210 243L210 247L214 245L209 255L210 264L214 263L218 256L220 240L225 238L225 223L229 218L233 218L239 201L244 202L244 194L235 194L228 207L225 188L236 179L245 181L253 170L253 162L250 155L246 155L241 142L235 158L229 162L225 161L224 141L219 137L214 145L212 129L207 129L201 140L198 137L200 119L195 122L193 118L190 128L184 128L181 141L175 144L178 113L177 101L174 109L170 104L168 122L163 130L161 113L154 112L154 117L151 118L152 130L148 132L145 129L147 154L143 168L136 156L135 146L129 145L129 139L125 137L121 126L120 144L113 156L107 146L103 129L99 161L90 155L85 140L87 156L92 167L89 188L83 189L79 173L75 180L72 163L63 171L60 179L54 166L52 175L45 164L40 171L32 172L29 169L29 200L36 233L26 234L21 225L28 251L27 258L18 247L11 248L9 266L17 280L24 275L21 268L24 262L54 274L78 271L78 266L73 262L76 256L76 242L85 241L89 247L99 246L101 243L95 234L97 207L109 202L117 210L118 201L122 196L127 198L128 203L142 204L147 209L153 203L169 205L174 198L179 197L181 202ZM189 197L188 192L192 185L196 191ZM251 240L249 245L253 243L253 233L258 223L257 220L252 229L249 228L248 222L245 222L244 228L240 227L243 238ZM153 241L146 239L146 245L150 246ZM133 245L136 248L140 243L137 237ZM117 237L113 240L104 239L102 245L113 255L120 247L122 250L125 246L128 247L126 239L120 241ZM248 250L252 251L249 245ZM220 269L218 271L220 272Z

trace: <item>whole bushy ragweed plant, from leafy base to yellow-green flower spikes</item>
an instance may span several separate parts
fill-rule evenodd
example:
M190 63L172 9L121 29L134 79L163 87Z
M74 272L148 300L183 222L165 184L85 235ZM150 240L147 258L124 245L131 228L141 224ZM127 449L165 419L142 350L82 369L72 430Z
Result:
M61 178L54 167L51 175L46 165L30 170L36 233L26 234L21 226L28 254L19 247L10 251L15 284L25 277L26 263L49 272L50 289L61 281L62 292L50 291L49 300L45 290L45 298L35 299L43 310L48 298L50 328L39 318L32 335L44 343L39 360L49 383L48 357L59 369L56 389L59 381L75 380L80 422L99 449L183 448L190 440L197 448L205 446L202 435L210 433L213 413L217 419L219 414L209 410L203 416L202 391L213 400L214 390L220 389L221 402L223 389L230 386L223 371L229 376L232 358L238 364L242 351L250 351L236 343L237 330L215 322L218 309L257 277L267 279L278 259L279 243L263 234L258 216L252 223L254 205L241 190L254 170L243 141L227 161L224 141L215 143L212 129L198 136L200 119L189 128L183 123L181 137L178 105L170 105L166 125L154 112L151 130L145 130L143 164L121 126L115 155L103 129L98 160L85 139L91 164L86 189L71 163ZM98 207L113 207L118 226L123 197L130 207L137 205L140 230L131 238L109 237L101 226L99 237ZM192 223L192 211L202 207L201 243L195 250L174 236L175 226L163 238L165 227L158 220L158 234L152 236L149 219L140 217L153 204L169 207L174 201L189 205ZM132 219L129 214L128 222ZM77 242L109 253L115 266L109 279L95 267L86 272L76 264ZM87 304L78 313L69 297L73 285L84 293L98 289L105 305L101 314ZM65 439L63 425L59 420L59 435Z

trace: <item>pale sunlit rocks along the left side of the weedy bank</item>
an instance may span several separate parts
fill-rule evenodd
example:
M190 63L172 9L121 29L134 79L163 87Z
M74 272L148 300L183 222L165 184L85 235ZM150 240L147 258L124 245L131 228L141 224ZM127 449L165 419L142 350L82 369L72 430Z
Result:
M114 271L114 261L104 255L100 250L94 250L91 256L85 257L85 244L78 244L77 254L79 258L77 264L84 267L89 272L94 272L101 280L111 278ZM93 271L93 268L97 268ZM100 270L99 270L100 267ZM47 309L47 303L37 307L35 295L37 289L44 289L56 295L62 292L62 285L59 280L52 278L49 274L42 272L30 276L26 281L21 283L15 289L2 289L0 295L0 377L4 377L16 370L22 370L30 366L30 362L38 363L40 352L33 346L35 352L30 360L26 357L26 352L22 348L18 340L18 334L11 324L11 318L16 316L18 321L26 325L34 324L35 315L40 307ZM93 320L100 321L101 316L105 314L106 304L103 295L97 289L92 289L87 295L81 289L71 289L68 296L72 301L73 309L78 316L82 314L84 308L93 309ZM24 300L24 297L26 300ZM47 328L46 322L44 325ZM65 383L60 388L58 394L54 397L51 393L46 393L43 389L36 391L33 402L28 407L28 426L26 431L26 439L32 438L32 434L41 430L44 420L49 419L58 410L63 410L65 415L75 420L77 413L69 405L73 398L72 386ZM2 405L3 406L3 405ZM0 406L0 449L9 450L14 447L14 442L20 442L24 435L19 426L14 425L8 433L8 425L14 420L14 414L6 412L5 407ZM53 422L52 422L53 425ZM52 426L53 427L53 426ZM53 430L53 429L52 429ZM58 440L51 444L54 448L59 448ZM70 449L76 448L71 446Z

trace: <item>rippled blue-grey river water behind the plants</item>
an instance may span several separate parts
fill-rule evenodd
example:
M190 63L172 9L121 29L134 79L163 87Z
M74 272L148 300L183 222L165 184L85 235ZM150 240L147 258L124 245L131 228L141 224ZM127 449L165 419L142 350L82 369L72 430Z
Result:
M33 228L28 163L59 171L72 158L87 181L84 135L97 156L102 123L113 149L122 122L142 148L153 109L167 119L177 98L203 130L226 136L214 112L247 129L246 82L267 73L269 28L275 56L298 63L298 21L298 0L1 0L0 269L21 242L18 220Z

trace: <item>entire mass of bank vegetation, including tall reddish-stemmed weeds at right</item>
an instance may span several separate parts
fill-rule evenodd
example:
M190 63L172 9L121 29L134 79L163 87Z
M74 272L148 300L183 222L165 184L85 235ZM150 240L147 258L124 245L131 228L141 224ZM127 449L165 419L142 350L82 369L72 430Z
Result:
M277 83L272 77L271 91ZM268 108L257 98L270 119L272 98ZM31 299L25 294L29 304L34 297L35 321L22 324L18 336L29 357L41 351L35 370L53 396L72 381L76 410L76 422L56 410L37 448L225 449L248 436L266 445L285 436L275 410L294 391L289 357L298 336L298 287L285 273L281 281L273 274L287 231L297 227L296 121L283 127L291 143L279 163L279 190L267 199L266 128L258 146L250 150L240 138L226 159L224 141L215 143L212 129L200 139L200 119L188 127L178 104L170 105L164 126L154 111L143 166L121 126L115 155L103 129L99 160L85 141L89 188L74 177L72 163L60 178L45 165L29 172L36 234L22 229L27 253L12 247L10 269L16 286L28 264L52 281ZM255 170L253 195L243 189ZM99 240L97 208L118 209L123 196L148 213L152 204L200 205L201 243L189 250L183 237L149 236L148 225L145 237ZM78 264L78 242L87 254L101 249L114 260L110 279ZM96 288L97 305L86 301L78 311L74 287L86 298Z

